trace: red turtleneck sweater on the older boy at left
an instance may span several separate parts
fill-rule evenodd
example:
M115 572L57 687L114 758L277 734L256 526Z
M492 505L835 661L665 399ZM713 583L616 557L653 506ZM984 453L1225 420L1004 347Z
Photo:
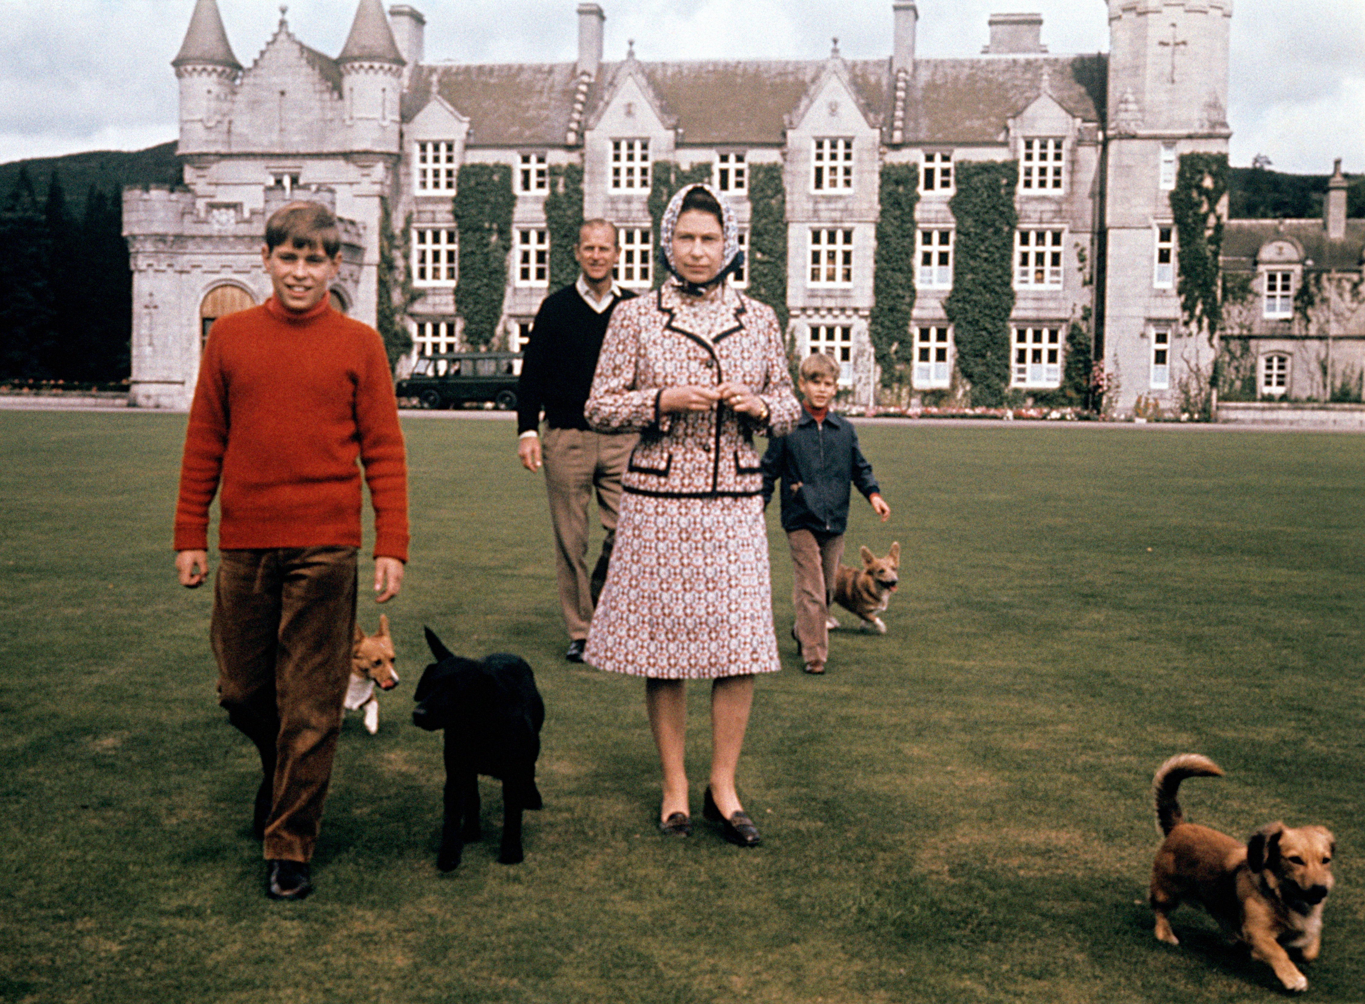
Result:
M207 550L222 484L222 550L360 546L360 468L374 555L408 557L407 462L378 333L324 299L274 297L213 325L190 408L175 550Z

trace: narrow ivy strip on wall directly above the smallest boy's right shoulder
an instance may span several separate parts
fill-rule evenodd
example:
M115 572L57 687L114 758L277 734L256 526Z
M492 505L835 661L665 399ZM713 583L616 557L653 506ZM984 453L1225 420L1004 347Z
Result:
M920 201L917 164L886 164L879 187L876 259L872 273L872 314L868 338L882 368L883 387L904 387L913 372L913 342L908 342L915 307L915 206Z

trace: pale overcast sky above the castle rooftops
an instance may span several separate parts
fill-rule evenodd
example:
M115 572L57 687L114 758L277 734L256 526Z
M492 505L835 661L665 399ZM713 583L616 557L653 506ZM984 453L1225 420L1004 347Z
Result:
M599 0L605 59L819 59L837 35L848 59L891 52L891 0ZM388 0L385 0L388 5ZM427 18L427 60L568 61L577 0L412 0ZM238 60L250 65L278 0L218 0ZM175 139L169 63L194 0L0 0L0 162ZM1037 11L1052 53L1107 52L1104 0L919 0L916 50L975 56L998 11ZM292 0L293 34L336 55L354 0ZM1235 0L1231 161L1257 153L1278 171L1365 171L1365 0Z

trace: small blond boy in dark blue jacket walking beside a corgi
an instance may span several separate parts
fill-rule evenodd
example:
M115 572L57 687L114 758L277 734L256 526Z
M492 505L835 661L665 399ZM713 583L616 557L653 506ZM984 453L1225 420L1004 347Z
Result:
M807 673L824 673L834 596L834 572L844 555L849 518L849 486L872 503L886 522L891 507L882 499L872 465L857 447L852 423L829 411L838 390L839 364L823 353L801 360L797 387L805 415L788 435L768 443L763 454L763 505L782 482L782 529L792 547L792 606L796 608L797 655Z

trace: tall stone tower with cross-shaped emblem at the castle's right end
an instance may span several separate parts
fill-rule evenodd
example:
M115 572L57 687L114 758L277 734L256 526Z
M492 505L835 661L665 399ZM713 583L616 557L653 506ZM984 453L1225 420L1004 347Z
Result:
M1108 18L1103 359L1119 412L1178 409L1212 346L1181 321L1170 195L1182 154L1227 153L1233 0L1108 0Z

